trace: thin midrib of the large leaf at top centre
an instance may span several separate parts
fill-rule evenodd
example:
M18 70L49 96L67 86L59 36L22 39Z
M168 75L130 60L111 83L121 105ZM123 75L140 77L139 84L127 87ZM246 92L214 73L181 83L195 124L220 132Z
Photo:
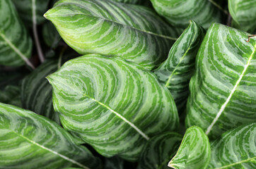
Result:
M47 18L47 13L45 13L44 17ZM76 13L74 15L86 15L85 13ZM54 15L54 16L59 16L59 15ZM69 16L69 15L61 15L61 16ZM109 20L109 19L106 19L106 18L102 18L100 16L97 16L97 15L87 15L87 16L92 16L92 17L95 17L95 18L99 18L99 19L102 19L102 20L106 20L106 21L109 21L109 22L112 22L112 23L117 23L119 25L122 25L124 27L129 27L129 28L132 28L134 30L138 30L140 32L144 32L144 33L147 33L147 34L150 34L150 35L154 35L156 37L162 37L162 38L165 38L165 39L170 39L170 40L177 40L178 38L177 37L168 37L168 36L165 36L165 35L158 35L154 32L150 32L150 31L146 31L146 30L141 30L139 28L136 28L136 27L133 27L133 26L130 26L130 25L124 25L123 23L118 23L117 21L114 21L114 20Z

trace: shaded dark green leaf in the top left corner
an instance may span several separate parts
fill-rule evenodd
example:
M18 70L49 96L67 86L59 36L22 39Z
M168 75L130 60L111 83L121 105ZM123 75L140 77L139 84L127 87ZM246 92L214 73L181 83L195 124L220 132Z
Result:
M0 65L27 63L33 68L28 61L32 42L11 1L0 1L0 15Z

